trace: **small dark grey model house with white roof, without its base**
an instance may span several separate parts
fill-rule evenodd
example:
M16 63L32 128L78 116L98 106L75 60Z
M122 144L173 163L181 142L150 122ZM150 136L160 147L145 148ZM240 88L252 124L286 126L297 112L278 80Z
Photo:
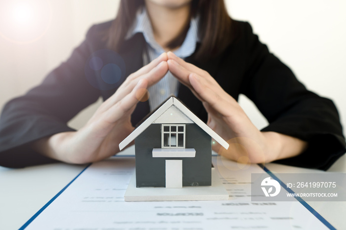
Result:
M177 98L170 97L119 148L134 140L137 188L210 186L212 138L228 149L226 141Z

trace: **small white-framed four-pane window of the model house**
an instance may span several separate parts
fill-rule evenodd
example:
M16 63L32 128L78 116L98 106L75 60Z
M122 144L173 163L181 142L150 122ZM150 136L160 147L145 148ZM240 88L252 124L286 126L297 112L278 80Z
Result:
M161 148L185 148L185 124L162 124Z

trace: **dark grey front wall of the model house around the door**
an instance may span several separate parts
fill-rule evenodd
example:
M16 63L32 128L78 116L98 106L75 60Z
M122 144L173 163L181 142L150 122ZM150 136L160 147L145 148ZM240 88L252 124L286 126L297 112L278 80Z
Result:
M183 186L211 185L212 138L197 124L185 127L185 148L194 148L195 157L152 157L153 148L161 148L161 124L151 124L134 143L137 187L165 187L166 159L182 159Z

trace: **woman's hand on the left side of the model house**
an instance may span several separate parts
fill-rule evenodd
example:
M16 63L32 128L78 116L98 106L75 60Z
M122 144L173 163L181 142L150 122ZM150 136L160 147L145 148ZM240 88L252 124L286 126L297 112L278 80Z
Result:
M45 156L80 164L118 153L119 143L134 129L130 117L145 96L144 89L157 83L167 71L167 54L163 53L127 77L80 130L54 134L34 142L32 147Z

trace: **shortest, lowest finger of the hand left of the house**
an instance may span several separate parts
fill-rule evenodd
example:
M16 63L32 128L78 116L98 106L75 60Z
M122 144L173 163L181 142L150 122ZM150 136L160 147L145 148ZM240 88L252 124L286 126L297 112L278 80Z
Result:
M122 100L118 101L104 113L105 121L113 124L122 117L129 115L128 112L131 111L139 102L138 98L143 97L145 94L145 91L141 91L141 89L146 89L147 86L148 81L146 79L140 79L130 94L126 95Z

